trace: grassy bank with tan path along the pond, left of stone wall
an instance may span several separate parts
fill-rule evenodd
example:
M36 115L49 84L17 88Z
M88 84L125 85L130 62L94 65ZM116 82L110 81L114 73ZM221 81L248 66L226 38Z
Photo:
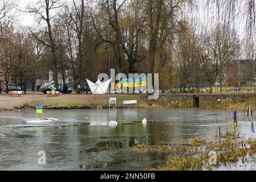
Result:
M45 94L26 94L20 97L0 95L0 110L35 109L41 105L44 109L107 109L109 97L117 97L117 107L123 107L124 100L137 100L139 109L163 109L156 101L150 101L146 94L116 94L116 95L92 95L92 94L69 94L50 96ZM112 105L113 107L114 105ZM126 105L126 108L135 108L135 105Z

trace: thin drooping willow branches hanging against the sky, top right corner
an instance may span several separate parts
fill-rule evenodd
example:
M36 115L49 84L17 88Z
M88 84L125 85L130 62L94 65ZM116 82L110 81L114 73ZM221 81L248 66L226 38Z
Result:
M255 57L255 17L256 4L255 0L207 0L204 1L204 7L207 11L205 15L208 17L209 24L223 23L230 24L234 30L245 30L245 51L247 57L254 59ZM215 18L211 15L216 14Z

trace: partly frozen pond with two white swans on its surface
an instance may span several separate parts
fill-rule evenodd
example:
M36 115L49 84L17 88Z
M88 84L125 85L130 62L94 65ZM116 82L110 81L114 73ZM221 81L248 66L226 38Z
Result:
M232 113L216 110L44 110L58 118L49 125L27 125L35 110L0 112L0 169L5 170L143 170L164 163L165 154L129 150L138 143L151 146L192 137L207 137L231 129ZM142 119L147 124L142 124ZM240 133L250 133L242 122ZM117 121L118 126L109 126ZM46 165L38 152L46 152Z

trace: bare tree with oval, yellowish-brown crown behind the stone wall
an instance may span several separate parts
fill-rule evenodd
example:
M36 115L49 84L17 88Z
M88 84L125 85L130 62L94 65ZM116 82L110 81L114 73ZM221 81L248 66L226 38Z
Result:
M225 25L216 26L210 34L204 35L201 46L197 47L200 69L205 73L208 83L213 85L225 65L233 59L237 43L236 32Z

